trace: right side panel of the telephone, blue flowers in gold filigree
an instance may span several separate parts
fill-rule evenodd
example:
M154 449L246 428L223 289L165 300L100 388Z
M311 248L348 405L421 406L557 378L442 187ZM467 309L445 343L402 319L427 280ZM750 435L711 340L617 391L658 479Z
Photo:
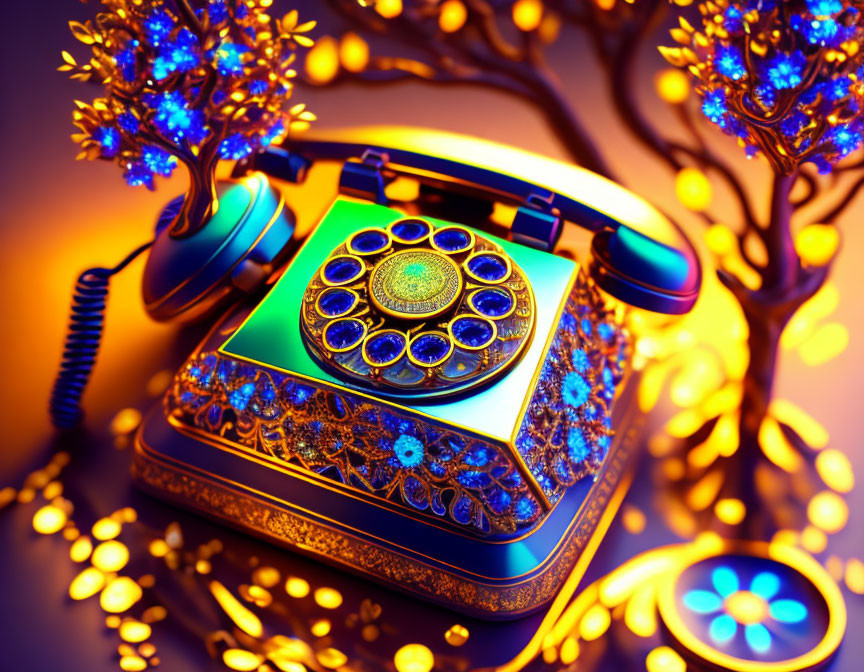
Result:
M531 397L516 448L550 502L598 471L612 437L612 402L628 340L580 277Z

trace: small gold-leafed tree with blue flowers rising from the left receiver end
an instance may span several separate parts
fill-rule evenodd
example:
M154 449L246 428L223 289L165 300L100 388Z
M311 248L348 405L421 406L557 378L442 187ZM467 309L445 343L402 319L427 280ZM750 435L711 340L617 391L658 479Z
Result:
M261 151L314 119L285 103L315 22L298 23L296 11L272 19L272 0L101 2L95 19L69 23L89 61L64 51L59 68L104 87L91 103L75 101L77 158L116 161L127 184L148 189L182 163L189 190L171 233L193 233L214 210L220 159Z

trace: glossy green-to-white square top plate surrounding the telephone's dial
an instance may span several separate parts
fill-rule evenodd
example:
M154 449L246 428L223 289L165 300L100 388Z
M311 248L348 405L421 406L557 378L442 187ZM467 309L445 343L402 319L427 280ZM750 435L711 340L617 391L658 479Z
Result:
M287 373L346 389L359 389L324 371L309 356L300 331L300 306L309 279L350 234L367 227L384 228L402 217L402 213L383 205L337 199L273 289L221 351ZM426 219L438 226L450 223L431 217ZM530 346L509 372L471 396L437 403L406 399L400 404L397 400L379 399L382 405L414 409L443 423L509 443L534 373L545 356L548 337L557 326L558 310L572 286L576 264L482 231L477 233L501 245L530 279L537 308ZM369 390L359 391L374 395Z

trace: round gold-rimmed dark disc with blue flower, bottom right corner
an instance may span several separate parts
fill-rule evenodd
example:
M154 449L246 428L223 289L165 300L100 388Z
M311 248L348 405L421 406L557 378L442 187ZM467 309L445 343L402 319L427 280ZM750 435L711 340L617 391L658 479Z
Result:
M724 669L819 667L842 638L837 619L845 621L831 577L794 547L728 546L690 560L662 586L660 614L675 640Z

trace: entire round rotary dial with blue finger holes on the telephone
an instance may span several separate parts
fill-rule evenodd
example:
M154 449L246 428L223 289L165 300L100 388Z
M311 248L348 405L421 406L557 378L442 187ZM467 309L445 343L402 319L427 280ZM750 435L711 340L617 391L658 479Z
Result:
M304 343L345 382L440 397L505 373L534 329L534 295L498 244L418 217L351 234L306 287Z

